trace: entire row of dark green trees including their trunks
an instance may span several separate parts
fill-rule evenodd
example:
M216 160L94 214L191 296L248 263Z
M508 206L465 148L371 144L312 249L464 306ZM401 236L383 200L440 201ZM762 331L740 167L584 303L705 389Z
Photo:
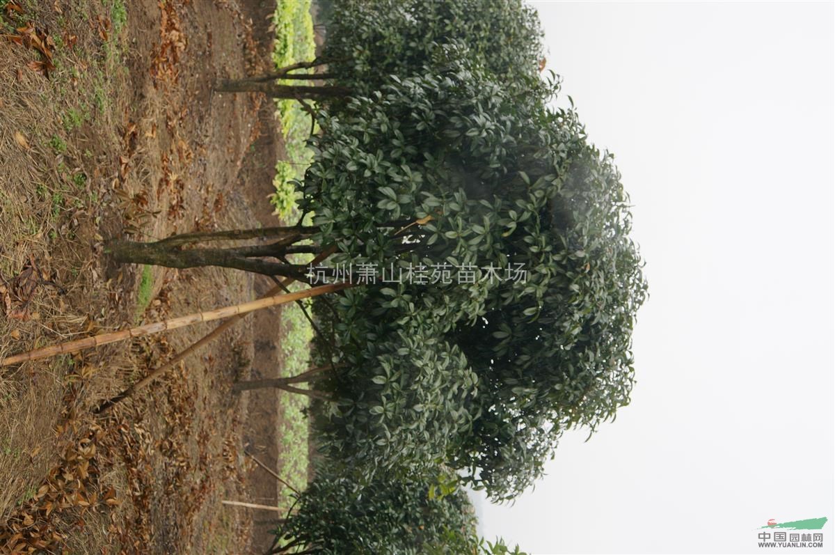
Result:
M321 59L218 84L306 104L320 131L297 186L312 222L110 243L119 262L302 283L299 252L443 271L351 275L314 299L318 366L266 384L311 395L322 455L273 552L506 552L478 542L445 485L513 499L564 430L629 402L646 284L628 197L574 109L552 107L541 36L520 0L334 3Z

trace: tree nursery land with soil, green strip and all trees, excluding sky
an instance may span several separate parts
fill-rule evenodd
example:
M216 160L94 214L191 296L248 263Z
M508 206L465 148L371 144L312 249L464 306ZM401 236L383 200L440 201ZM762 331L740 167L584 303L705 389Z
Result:
M0 0L0 548L523 555L630 403L612 155L522 0Z

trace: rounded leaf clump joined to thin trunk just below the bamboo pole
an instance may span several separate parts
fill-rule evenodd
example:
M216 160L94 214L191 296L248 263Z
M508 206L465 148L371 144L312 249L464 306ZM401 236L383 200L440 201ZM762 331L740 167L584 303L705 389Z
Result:
M342 396L317 415L330 456L371 476L392 467L422 473L455 449L472 426L467 407L477 377L433 331L415 320L367 335L346 357L352 364L338 377Z

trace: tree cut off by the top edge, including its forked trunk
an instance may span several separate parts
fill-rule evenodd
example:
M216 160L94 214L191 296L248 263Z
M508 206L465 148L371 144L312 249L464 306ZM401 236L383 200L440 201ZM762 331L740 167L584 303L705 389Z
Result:
M514 86L521 79L530 86L543 61L541 37L536 11L521 0L341 0L333 5L319 59L223 79L215 89L316 100L332 113L344 99L380 89L389 75L423 74L437 45L456 41L498 82Z

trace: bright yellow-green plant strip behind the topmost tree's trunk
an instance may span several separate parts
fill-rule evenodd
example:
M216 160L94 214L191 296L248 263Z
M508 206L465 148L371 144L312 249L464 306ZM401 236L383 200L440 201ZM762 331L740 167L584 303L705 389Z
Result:
M279 0L274 22L276 41L272 60L276 68L316 58L311 0ZM301 109L301 104L291 99L276 100L276 115L281 120L286 160L276 164L273 180L276 192L271 195L270 201L276 214L286 219L296 206L294 181L301 180L312 160L312 153L306 148L311 120L310 115Z

